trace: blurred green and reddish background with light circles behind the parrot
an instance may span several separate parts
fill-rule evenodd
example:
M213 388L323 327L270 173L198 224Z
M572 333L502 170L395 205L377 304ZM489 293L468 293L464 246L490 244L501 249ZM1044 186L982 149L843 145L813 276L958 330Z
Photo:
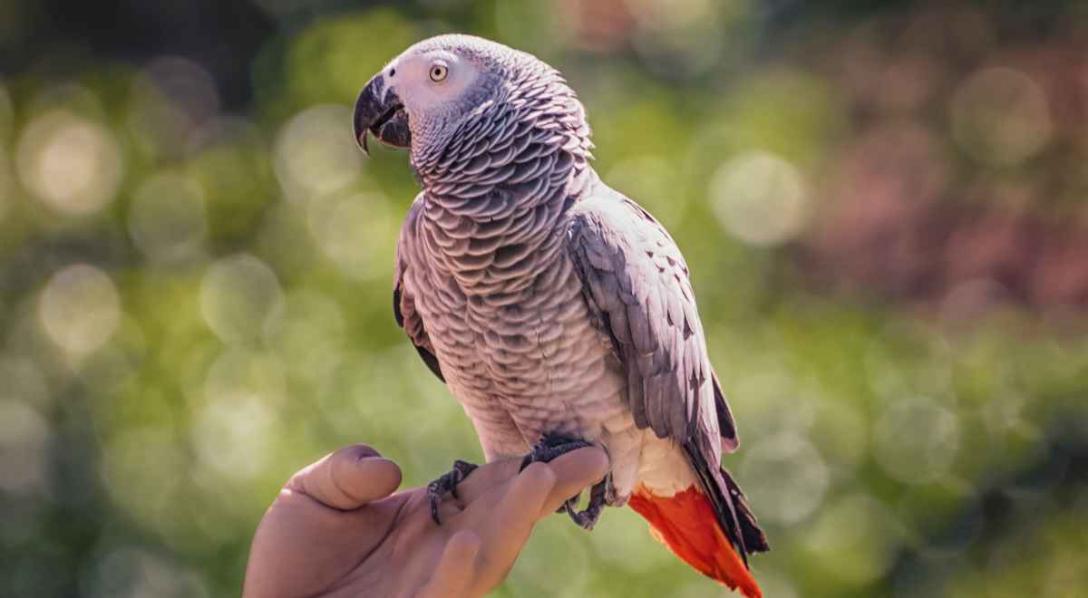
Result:
M480 458L350 125L447 32L564 71L685 252L768 597L1088 595L1088 5L875 0L4 0L0 594L237 595L322 453ZM497 595L725 591L610 510Z

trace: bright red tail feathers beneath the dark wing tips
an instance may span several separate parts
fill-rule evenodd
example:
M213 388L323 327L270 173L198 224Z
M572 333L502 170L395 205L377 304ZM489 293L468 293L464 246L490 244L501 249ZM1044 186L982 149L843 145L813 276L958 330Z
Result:
M697 487L659 497L641 486L629 504L650 522L651 534L684 562L731 589L739 588L747 598L763 598L744 561L718 527L709 499Z

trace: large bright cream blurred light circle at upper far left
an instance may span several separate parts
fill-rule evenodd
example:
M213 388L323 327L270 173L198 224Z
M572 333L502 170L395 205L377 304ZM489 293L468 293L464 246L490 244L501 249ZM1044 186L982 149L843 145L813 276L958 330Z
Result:
M20 180L62 214L81 215L113 200L123 161L113 134L64 110L35 119L18 141Z

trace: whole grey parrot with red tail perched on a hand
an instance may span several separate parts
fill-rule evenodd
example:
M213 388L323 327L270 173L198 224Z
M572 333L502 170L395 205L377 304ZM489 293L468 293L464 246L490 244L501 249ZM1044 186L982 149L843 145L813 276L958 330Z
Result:
M480 37L422 40L363 86L354 132L408 150L421 187L396 246L393 311L459 400L484 459L522 468L585 446L609 471L578 510L630 506L689 565L762 596L769 550L721 465L737 424L669 233L593 170L585 108L533 54ZM432 483L431 513L475 465Z

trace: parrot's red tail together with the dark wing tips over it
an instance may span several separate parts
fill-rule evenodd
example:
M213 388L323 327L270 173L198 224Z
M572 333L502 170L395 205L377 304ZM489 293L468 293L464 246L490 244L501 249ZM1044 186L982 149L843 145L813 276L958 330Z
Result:
M684 562L747 598L762 598L747 555L770 549L763 531L729 472L710 470L696 451L684 448L701 484L672 496L640 486L628 503L650 522L651 534Z

